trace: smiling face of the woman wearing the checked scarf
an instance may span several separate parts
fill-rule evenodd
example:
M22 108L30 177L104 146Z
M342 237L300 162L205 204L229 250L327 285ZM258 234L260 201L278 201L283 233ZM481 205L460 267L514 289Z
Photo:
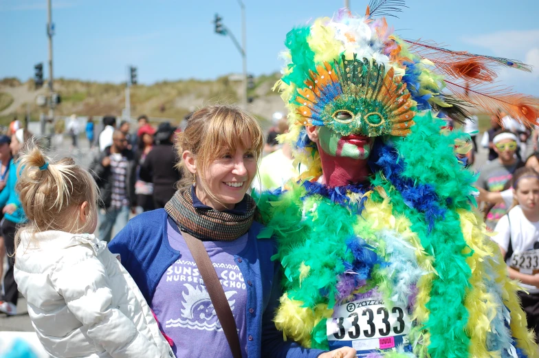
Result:
M197 176L197 196L202 203L215 210L234 208L250 188L256 175L256 165L256 155L251 148L238 146L235 153L223 153L206 169L204 187ZM201 188L212 193L214 199L205 192L199 192Z

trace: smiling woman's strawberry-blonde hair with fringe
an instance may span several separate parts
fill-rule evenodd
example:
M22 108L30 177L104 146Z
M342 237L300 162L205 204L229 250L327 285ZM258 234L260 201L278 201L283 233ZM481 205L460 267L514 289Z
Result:
M185 131L177 137L176 150L179 158L188 150L197 159L197 176L205 186L207 178L204 173L212 161L223 153L234 153L240 145L253 150L256 159L259 159L264 146L264 135L259 122L237 107L214 105L192 114ZM195 181L195 175L182 160L178 162L177 168L183 174L177 188L190 186ZM207 194L216 199L211 192Z

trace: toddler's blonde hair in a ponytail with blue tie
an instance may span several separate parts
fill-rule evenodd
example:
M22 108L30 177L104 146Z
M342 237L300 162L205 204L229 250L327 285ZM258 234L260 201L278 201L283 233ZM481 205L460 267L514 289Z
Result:
M30 141L19 157L20 178L15 189L28 224L23 230L30 234L58 230L79 234L96 214L98 186L89 172L75 164L72 158L53 162L39 146ZM88 202L85 225L78 220L78 207Z

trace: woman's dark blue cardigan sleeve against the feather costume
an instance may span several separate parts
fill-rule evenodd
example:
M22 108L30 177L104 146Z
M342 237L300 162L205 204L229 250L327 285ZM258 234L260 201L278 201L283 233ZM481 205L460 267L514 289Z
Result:
M283 333L278 331L273 318L281 298L281 272L280 267L275 263L274 278L272 281L272 293L270 302L262 316L262 358L316 358L325 350L303 348L296 342L283 339Z

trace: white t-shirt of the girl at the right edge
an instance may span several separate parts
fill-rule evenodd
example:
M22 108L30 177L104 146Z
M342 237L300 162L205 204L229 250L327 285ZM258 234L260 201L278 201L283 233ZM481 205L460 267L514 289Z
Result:
M509 219L507 219L509 216ZM510 223L509 223L510 222ZM507 265L511 266L511 258L524 251L533 250L533 245L539 243L539 222L532 223L522 212L520 205L516 205L513 209L509 210L507 215L502 216L500 221L494 228L496 235L492 237L495 243L505 249L509 248L509 238L511 239L511 246L513 247L513 255L507 258ZM532 262L533 264L533 262ZM520 269L521 273L531 274L531 269ZM521 287L526 289L529 293L538 293L539 289L529 284L520 284Z

